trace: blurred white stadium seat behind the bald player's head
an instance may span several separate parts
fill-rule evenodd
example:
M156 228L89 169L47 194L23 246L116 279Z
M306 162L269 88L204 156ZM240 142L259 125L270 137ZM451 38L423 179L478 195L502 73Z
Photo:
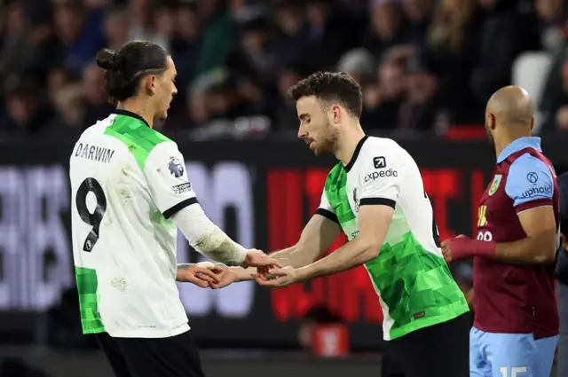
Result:
M537 106L540 104L542 90L544 90L548 71L550 71L552 63L552 56L548 52L528 51L519 55L513 64L513 84L525 88ZM535 130L533 131L538 133L543 117L537 112L534 118Z

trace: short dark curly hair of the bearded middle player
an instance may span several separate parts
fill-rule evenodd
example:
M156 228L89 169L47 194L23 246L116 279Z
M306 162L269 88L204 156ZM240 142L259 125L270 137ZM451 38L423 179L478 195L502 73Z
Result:
M363 112L361 86L345 72L316 72L297 82L288 93L295 101L315 96L326 103L338 102L358 118Z

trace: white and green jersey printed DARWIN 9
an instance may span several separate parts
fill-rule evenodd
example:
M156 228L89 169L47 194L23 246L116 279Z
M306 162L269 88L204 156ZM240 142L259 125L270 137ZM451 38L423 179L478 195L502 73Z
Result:
M83 334L163 338L189 330L170 216L197 200L176 143L117 110L83 132L69 175Z

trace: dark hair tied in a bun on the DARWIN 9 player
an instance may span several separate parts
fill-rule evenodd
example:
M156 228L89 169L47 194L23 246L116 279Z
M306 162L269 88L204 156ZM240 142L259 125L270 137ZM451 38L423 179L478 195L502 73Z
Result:
M97 65L105 69L109 100L116 103L136 96L142 77L168 69L168 56L162 46L148 41L126 43L120 50L99 51Z

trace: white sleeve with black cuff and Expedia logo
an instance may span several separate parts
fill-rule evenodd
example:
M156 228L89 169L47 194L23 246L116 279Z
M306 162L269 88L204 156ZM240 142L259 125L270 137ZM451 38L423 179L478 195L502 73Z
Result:
M373 151L373 150L371 150ZM404 160L397 153L366 153L359 173L359 205L381 204L395 208L403 179Z

